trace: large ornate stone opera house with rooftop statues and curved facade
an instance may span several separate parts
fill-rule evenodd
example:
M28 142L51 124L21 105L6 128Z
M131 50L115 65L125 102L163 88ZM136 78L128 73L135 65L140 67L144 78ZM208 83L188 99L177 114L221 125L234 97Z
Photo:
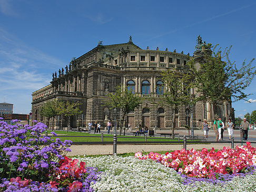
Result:
M201 50L196 50L193 57L198 62L203 57ZM114 45L98 45L84 55L73 59L69 65L53 73L52 82L32 94L32 119L45 121L40 115L40 107L51 100L80 102L82 114L72 117L72 127L80 127L89 120L96 120L101 124L108 119L114 120L114 110L104 106L108 93L114 93L117 85L127 86L134 93L144 97L143 104L127 114L127 123L131 127L138 124L150 128L171 129L172 109L170 107L154 106L150 98L162 98L163 84L161 72L174 70L186 72L186 62L191 58L189 53L176 53L165 50L142 49L129 42ZM198 95L194 89L191 95ZM191 113L193 110L193 113ZM217 106L217 114L225 121L228 116L234 117L231 103L224 101ZM191 115L193 114L193 115ZM191 116L193 120L191 119ZM82 118L83 117L83 118ZM209 102L198 102L194 106L183 106L175 110L176 127L184 125L201 127L203 119L213 122L213 106ZM55 126L67 127L67 118L61 116Z

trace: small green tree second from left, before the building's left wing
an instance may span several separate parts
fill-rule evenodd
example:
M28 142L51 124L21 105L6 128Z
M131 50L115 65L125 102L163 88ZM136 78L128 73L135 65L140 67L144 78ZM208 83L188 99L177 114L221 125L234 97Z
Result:
M82 111L79 109L80 105L81 103L79 102L75 102L75 103L66 102L62 105L60 114L63 114L68 118L67 132L68 132L68 129L71 127L70 117L82 113Z

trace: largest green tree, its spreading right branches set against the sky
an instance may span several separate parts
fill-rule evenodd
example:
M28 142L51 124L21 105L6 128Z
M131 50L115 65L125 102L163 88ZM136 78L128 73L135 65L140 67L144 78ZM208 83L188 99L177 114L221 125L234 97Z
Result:
M244 60L238 68L229 58L231 47L223 51L216 50L216 47L213 50L202 49L203 59L200 62L193 57L187 63L194 76L194 86L200 93L200 100L208 100L213 105L214 114L216 114L216 106L224 100L230 103L241 99L247 100L251 94L244 93L244 89L250 86L256 74L255 66L251 66L254 58L248 64ZM216 138L217 132L215 132Z

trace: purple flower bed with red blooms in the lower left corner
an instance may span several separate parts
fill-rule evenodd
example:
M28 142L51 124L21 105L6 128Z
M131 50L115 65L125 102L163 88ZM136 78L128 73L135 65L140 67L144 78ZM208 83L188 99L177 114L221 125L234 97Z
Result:
M64 156L70 151L70 140L42 136L46 130L42 123L12 123L16 124L0 122L0 191L93 190L90 185L101 172Z

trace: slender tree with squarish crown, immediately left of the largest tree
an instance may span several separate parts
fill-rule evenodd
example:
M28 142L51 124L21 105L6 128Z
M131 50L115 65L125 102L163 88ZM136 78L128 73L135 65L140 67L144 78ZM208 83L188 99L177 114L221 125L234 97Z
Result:
M192 98L189 93L191 76L186 73L167 70L162 73L162 80L165 90L161 102L172 108L172 138L174 138L175 109L178 109L182 105L189 105Z

